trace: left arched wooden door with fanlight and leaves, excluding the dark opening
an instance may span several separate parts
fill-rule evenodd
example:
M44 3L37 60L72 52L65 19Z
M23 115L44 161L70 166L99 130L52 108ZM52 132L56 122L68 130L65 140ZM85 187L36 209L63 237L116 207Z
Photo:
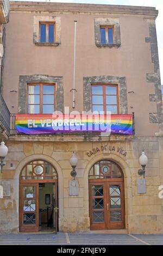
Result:
M53 225L58 226L58 179L52 164L36 160L28 163L20 174L20 231L39 231L39 188L52 184L51 202ZM42 198L45 200L45 198ZM49 198L47 198L49 200Z

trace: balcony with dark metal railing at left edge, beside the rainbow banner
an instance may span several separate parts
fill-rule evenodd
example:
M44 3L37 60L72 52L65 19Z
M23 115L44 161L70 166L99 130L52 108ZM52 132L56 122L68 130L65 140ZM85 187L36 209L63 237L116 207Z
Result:
M10 111L0 94L0 138L9 138L10 135Z

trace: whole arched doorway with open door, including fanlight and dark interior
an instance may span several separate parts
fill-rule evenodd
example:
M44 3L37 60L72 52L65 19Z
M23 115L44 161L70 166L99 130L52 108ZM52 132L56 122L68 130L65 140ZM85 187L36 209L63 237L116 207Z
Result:
M20 231L58 230L58 179L52 164L37 160L20 174Z

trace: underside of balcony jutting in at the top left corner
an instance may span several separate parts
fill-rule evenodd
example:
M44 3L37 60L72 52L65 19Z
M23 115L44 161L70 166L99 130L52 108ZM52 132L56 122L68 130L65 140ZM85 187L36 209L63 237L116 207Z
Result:
M0 0L0 23L5 24L9 22L9 0Z

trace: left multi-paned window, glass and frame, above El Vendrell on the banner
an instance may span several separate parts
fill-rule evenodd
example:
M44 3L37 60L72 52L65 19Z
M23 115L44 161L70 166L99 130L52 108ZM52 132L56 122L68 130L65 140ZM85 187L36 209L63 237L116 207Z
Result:
M55 111L55 84L28 84L28 113L51 114Z

